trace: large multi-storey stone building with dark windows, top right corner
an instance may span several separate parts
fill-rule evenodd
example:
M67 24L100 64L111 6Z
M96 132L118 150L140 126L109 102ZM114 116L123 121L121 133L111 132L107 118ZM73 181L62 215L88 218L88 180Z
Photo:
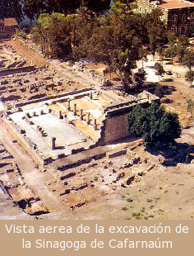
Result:
M164 15L161 19L167 22L167 27L177 35L191 35L194 31L194 3L184 0L136 0L136 12L151 12L159 8Z

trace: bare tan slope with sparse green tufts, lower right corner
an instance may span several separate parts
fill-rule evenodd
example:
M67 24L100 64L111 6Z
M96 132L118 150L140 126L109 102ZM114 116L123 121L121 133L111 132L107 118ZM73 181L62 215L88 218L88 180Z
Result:
M88 206L77 208L72 213L60 212L41 216L46 219L85 220L192 220L194 218L194 164L178 164L164 167L163 157L151 155L143 146L134 149L141 158L149 159L155 167L136 166L145 172L127 188L99 197ZM120 161L120 157L113 162ZM95 168L93 171L95 172Z

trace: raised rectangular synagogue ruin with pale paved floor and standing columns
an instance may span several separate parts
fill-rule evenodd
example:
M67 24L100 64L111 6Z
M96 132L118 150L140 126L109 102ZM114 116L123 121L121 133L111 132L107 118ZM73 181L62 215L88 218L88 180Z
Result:
M126 126L127 113L137 103L148 107L152 101L159 102L159 97L146 91L126 98L83 88L16 103L3 120L44 170L69 155L125 137L132 139Z

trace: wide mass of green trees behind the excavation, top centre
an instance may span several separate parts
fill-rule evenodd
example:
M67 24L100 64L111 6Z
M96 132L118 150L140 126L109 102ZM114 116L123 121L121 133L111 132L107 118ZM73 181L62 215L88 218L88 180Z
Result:
M62 7L65 2L66 11ZM101 5L103 9L107 8L110 1L56 0L48 5L51 8L48 12L53 10L52 4L57 11L51 14L39 14L47 9L48 0L25 0L25 3L25 8L31 6L35 9L32 3L39 4L39 10L35 11L39 19L32 30L32 38L44 50L51 50L52 54L64 59L84 58L96 64L104 63L109 73L117 73L125 92L131 92L132 69L136 68L136 61L146 59L147 48L154 54L157 47L166 40L164 22L159 19L161 12L139 15L133 12L134 3L130 0L114 1L109 12L101 15L98 8ZM30 11L29 15L33 13ZM58 21L53 20L53 13L58 13L55 17L59 17L60 13L64 17ZM157 31L154 31L155 27ZM144 80L145 75L142 75ZM137 75L139 87L141 80Z

